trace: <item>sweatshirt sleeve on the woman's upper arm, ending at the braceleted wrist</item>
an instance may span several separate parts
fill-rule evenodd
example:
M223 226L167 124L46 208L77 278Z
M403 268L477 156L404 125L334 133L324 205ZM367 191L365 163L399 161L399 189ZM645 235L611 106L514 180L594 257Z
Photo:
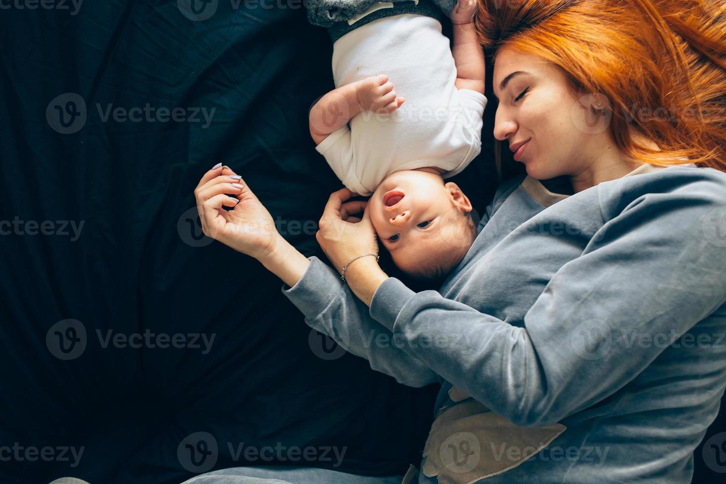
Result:
M555 273L523 327L394 278L378 287L371 315L407 352L515 424L559 422L615 393L664 350L632 345L632 335L680 337L726 302L726 242L717 237L726 197L702 193L630 203Z

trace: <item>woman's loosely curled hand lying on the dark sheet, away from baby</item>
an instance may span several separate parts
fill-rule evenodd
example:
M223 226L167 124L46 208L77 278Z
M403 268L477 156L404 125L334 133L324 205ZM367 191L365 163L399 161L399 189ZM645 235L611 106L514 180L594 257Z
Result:
M264 205L227 166L204 174L194 191L204 234L262 261L282 237ZM222 207L234 207L224 210Z

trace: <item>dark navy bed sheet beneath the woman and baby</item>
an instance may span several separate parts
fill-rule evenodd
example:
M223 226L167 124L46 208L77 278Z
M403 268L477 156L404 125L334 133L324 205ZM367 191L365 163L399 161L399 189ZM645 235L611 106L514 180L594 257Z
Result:
M301 1L196 1L199 17L188 0L0 9L1 483L171 484L259 464L386 475L420 458L436 385L404 387L336 350L279 280L197 224L193 189L221 162L321 255L315 227L340 184L307 112L333 87L327 33ZM184 120L144 119L147 105ZM496 183L490 106L484 154L456 179L479 210ZM67 319L75 334L54 326ZM108 339L147 332L189 344ZM59 335L80 343L62 353ZM240 454L264 446L281 458ZM292 462L294 447L317 458ZM322 456L333 447L337 467Z

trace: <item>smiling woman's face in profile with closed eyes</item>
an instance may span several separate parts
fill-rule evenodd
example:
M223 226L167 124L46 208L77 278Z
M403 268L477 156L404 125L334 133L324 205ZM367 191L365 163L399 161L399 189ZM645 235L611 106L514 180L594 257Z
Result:
M500 49L494 95L494 137L509 141L515 160L535 179L577 176L595 163L593 154L612 148L609 110L594 109L598 101L609 108L607 99L580 96L563 70L541 57Z

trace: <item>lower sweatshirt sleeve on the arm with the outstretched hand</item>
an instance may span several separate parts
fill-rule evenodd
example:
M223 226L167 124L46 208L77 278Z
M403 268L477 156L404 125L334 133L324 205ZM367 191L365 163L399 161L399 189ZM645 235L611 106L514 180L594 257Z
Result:
M439 376L417 356L401 350L401 337L372 319L368 307L344 284L340 276L317 257L293 287L282 293L302 311L305 322L327 335L370 367L409 387L440 382Z

